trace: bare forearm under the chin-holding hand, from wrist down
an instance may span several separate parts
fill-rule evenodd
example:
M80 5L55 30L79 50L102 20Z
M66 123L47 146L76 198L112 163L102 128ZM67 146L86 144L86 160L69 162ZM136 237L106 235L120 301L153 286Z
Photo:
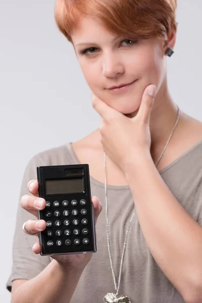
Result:
M125 176L155 261L185 302L202 302L202 227L172 194L152 159L130 163Z

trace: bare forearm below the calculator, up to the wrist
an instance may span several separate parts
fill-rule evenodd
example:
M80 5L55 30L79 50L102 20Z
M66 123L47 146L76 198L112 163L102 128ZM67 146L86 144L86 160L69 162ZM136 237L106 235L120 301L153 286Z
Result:
M84 266L66 268L53 260L39 275L23 282L12 292L11 303L68 303L83 269Z

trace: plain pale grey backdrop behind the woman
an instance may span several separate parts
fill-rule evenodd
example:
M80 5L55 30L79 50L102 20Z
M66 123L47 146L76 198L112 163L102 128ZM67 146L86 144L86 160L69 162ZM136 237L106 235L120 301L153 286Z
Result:
M90 89L71 44L54 20L55 0L0 0L1 302L25 166L40 151L76 141L99 127ZM201 120L201 0L179 0L168 82L175 102ZM43 132L41 132L43 130Z

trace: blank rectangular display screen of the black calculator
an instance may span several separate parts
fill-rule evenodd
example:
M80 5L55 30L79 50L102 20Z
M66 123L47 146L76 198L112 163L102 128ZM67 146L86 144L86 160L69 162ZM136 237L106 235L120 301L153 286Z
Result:
M83 177L45 180L46 194L84 192Z

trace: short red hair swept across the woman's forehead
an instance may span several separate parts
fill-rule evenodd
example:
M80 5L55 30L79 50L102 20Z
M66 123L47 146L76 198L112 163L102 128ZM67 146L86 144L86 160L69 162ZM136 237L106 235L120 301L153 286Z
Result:
M99 19L110 32L127 38L168 39L176 30L177 0L57 0L55 19L72 43L71 32L81 16Z

